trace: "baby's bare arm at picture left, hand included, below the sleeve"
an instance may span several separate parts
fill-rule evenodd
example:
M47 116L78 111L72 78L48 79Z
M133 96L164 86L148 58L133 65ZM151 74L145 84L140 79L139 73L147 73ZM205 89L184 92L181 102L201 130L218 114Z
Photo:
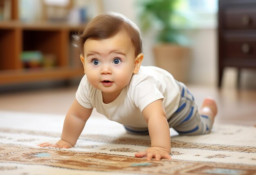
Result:
M56 144L52 143L41 143L40 147L57 147L57 148L71 148L76 144L86 121L92 114L92 109L81 106L76 100L74 100L70 109L65 117L63 130L61 134L61 140Z

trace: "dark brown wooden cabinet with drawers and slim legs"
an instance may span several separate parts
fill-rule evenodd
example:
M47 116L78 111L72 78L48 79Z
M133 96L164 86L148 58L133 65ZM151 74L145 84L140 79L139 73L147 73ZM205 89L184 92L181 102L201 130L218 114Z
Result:
M225 67L256 68L256 1L219 0L218 68L221 86Z

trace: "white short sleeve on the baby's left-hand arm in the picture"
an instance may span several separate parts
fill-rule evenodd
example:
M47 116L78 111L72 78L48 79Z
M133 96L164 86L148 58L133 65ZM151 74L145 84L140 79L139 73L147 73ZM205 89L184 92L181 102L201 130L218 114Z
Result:
M86 75L82 78L79 87L76 91L76 100L83 107L88 109L92 108L90 100L90 84L87 80Z

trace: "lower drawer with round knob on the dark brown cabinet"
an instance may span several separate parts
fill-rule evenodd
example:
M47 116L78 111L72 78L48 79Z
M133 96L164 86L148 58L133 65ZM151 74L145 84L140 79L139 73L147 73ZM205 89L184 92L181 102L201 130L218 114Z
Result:
M228 37L223 47L224 57L256 59L256 37Z

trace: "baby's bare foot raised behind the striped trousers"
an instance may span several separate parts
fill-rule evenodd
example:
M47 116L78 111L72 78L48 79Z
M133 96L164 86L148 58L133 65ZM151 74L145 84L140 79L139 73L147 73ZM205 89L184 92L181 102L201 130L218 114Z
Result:
M215 100L211 97L204 98L202 107L200 109L200 114L210 116L212 119L214 119L217 111Z

